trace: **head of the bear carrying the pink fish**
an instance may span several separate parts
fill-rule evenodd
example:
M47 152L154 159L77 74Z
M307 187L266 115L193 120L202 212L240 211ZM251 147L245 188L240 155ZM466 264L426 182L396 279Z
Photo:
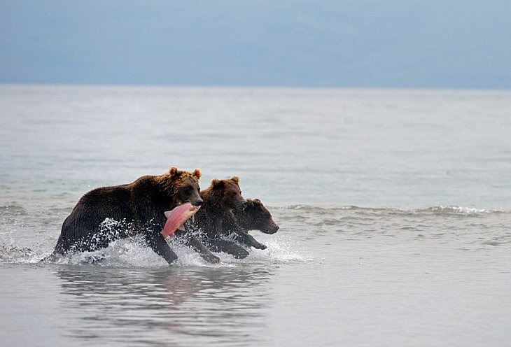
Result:
M200 169L193 172L180 171L176 167L171 167L169 173L166 174L166 184L171 190L171 194L177 204L190 202L194 206L201 206L204 201L200 197L199 178L201 176Z

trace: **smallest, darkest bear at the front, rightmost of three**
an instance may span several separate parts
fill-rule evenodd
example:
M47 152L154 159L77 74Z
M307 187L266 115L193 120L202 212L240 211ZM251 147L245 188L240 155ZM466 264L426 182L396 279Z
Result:
M265 205L259 199L246 199L246 206L242 211L234 211L241 232L234 236L235 241L249 247L265 249L266 246L248 234L249 230L259 230L265 234L275 234L279 230Z

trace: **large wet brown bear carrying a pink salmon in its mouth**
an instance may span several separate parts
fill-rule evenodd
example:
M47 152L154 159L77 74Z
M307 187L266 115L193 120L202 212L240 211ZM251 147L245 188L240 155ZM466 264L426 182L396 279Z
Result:
M48 258L106 248L116 239L143 234L155 253L169 264L174 262L177 255L162 236L165 211L188 201L201 206L200 176L199 169L190 173L172 167L167 174L87 192L64 220L57 246Z

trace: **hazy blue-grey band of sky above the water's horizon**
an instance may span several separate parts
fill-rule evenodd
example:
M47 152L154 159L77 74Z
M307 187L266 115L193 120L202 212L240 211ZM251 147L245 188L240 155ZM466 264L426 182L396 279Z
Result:
M0 83L511 89L511 1L0 0Z

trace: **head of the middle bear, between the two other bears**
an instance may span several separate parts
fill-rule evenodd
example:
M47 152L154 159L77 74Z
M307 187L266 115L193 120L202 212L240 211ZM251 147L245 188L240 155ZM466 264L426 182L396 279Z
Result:
M223 211L242 211L246 206L246 200L241 196L238 176L225 180L214 178L207 194L211 204Z

